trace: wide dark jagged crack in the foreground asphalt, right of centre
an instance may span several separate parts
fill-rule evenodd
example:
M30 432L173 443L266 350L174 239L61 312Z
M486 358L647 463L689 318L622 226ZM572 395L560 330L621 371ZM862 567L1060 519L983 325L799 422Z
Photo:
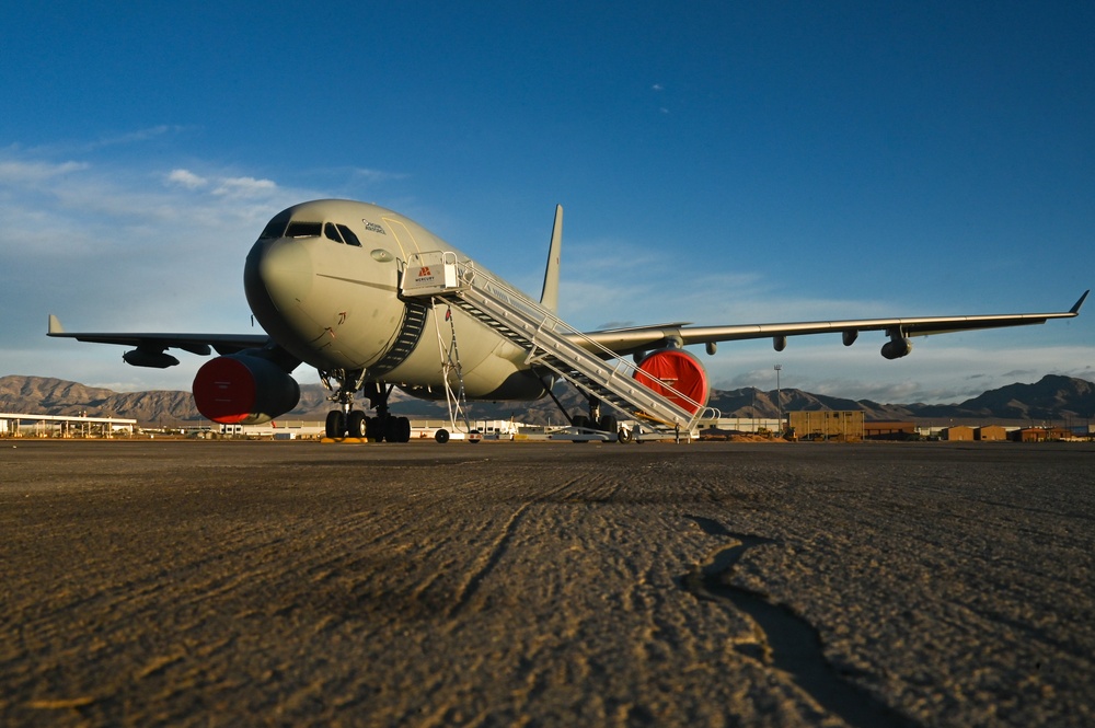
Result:
M818 631L785 604L768 594L731 583L734 567L746 551L775 543L771 539L734 533L710 518L689 516L704 533L733 539L704 564L694 565L680 579L696 599L728 602L753 623L754 644L739 644L735 650L747 659L786 675L818 705L855 727L917 726L909 718L879 702L874 695L844 680L825 657Z

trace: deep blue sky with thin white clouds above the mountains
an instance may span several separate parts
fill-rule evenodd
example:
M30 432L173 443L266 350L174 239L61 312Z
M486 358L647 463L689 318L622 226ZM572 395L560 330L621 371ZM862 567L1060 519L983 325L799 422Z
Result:
M1068 309L1095 281L1095 4L22 3L0 45L0 374L188 389L72 331L246 332L265 221L347 197L570 323ZM1077 320L723 345L719 388L1095 380ZM318 381L310 370L302 382Z

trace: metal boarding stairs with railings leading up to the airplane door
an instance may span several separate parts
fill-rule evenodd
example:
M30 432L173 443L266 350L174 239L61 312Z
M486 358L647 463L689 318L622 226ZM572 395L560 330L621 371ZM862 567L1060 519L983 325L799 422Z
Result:
M413 255L401 294L408 301L440 299L466 311L523 349L526 363L551 370L626 418L639 419L645 429L691 434L703 416L714 414L662 382L659 386L677 402L645 386L641 380L649 374L631 361L450 251Z

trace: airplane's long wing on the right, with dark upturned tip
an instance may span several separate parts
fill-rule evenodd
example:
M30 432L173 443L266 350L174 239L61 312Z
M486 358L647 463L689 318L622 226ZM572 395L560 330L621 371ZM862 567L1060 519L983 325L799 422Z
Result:
M1042 324L1050 319L1072 319L1080 313L1080 307L1090 291L1084 291L1080 300L1068 311L1053 313L1004 313L972 316L923 316L913 319L853 319L848 321L809 321L800 323L746 324L737 326L692 326L688 324L659 324L588 332L583 337L593 345L604 347L618 355L647 351L666 346L688 346L690 344L716 344L749 338L772 338L776 350L782 350L787 336L807 334L841 334L850 346L860 332L886 332L890 339L910 336L947 334L977 328L1001 328ZM596 347L595 347L596 348Z

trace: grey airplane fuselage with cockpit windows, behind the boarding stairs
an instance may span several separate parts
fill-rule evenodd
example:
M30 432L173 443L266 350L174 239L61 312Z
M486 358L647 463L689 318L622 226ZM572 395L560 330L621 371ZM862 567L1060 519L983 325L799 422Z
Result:
M416 396L443 397L453 330L465 395L532 400L544 394L526 354L458 308L403 300L400 277L418 253L469 257L382 207L316 200L274 218L251 249L244 288L270 337L323 371L364 370Z

